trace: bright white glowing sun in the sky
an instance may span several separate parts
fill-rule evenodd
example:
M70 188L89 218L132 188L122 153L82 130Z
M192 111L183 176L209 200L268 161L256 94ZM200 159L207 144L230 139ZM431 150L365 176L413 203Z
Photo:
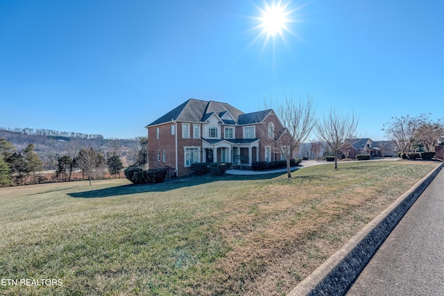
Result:
M289 12L281 3L273 3L272 6L266 4L265 10L262 10L262 33L266 33L267 37L275 37L276 33L282 35L282 29L288 30L285 24L289 21L287 19Z

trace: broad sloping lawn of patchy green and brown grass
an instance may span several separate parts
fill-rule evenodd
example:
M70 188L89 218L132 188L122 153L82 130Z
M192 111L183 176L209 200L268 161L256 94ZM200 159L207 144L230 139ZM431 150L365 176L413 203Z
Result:
M5 295L285 295L436 162L0 189ZM3 281L4 284L4 281Z

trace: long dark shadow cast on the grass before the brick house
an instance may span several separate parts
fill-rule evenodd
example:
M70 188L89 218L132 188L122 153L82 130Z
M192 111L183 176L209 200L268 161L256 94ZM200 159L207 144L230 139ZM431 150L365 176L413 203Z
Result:
M107 198L117 195L130 195L144 192L165 192L183 187L197 186L200 184L210 184L218 181L247 181L247 180L270 180L283 175L282 173L269 173L265 175L223 175L217 177L214 175L203 176L187 176L178 179L168 180L159 184L128 184L122 186L114 186L104 189L96 189L90 191L82 191L69 193L72 198Z

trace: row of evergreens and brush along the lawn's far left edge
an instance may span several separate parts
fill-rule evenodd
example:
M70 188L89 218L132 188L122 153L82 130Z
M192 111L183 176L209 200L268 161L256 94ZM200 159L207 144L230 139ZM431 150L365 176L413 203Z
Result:
M74 173L80 173L80 180L89 180L91 184L94 180L103 179L107 170L112 177L120 177L123 162L117 154L119 146L117 141L111 145L114 146L107 153L88 147L71 150L58 157L52 181L69 182L73 180ZM144 168L148 159L148 139L139 137L137 146L137 157L131 165ZM46 182L44 176L47 174L42 173L43 169L42 159L34 152L33 143L17 151L10 141L0 138L0 186Z

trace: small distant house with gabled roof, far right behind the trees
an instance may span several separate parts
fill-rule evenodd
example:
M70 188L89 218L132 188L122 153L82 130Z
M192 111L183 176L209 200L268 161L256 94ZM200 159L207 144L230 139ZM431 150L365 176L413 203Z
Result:
M393 141L372 141L370 138L349 139L341 148L341 158L355 159L356 155L366 154L372 157L396 157Z

